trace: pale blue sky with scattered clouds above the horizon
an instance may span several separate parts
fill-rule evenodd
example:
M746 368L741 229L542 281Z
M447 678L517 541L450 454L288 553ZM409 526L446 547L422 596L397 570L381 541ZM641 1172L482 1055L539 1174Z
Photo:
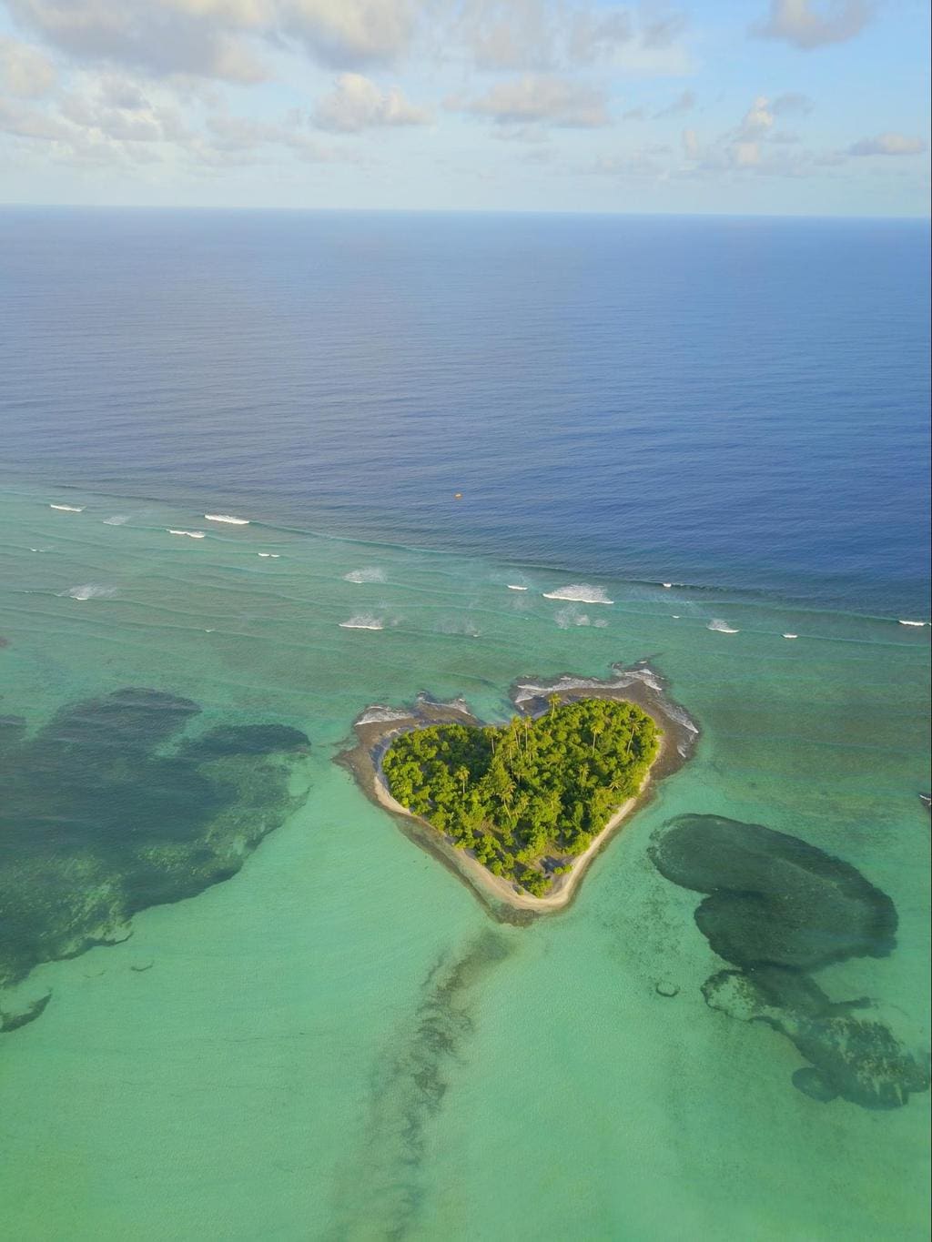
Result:
M926 216L925 0L0 0L0 202Z

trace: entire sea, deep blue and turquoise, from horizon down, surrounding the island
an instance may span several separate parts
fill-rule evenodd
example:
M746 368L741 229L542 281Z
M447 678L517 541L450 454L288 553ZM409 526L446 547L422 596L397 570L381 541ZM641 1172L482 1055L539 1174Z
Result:
M4 216L5 1231L926 1237L917 236L304 227ZM531 927L332 763L636 661L696 755ZM843 859L876 940L743 1021L680 816ZM895 1107L815 1098L867 1022Z

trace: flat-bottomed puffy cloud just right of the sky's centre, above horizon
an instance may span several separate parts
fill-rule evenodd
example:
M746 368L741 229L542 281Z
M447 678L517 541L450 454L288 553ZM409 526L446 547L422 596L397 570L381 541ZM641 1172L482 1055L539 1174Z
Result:
M500 125L557 125L593 129L609 123L605 94L565 78L526 73L500 82L475 99L449 99L447 107L490 117Z

